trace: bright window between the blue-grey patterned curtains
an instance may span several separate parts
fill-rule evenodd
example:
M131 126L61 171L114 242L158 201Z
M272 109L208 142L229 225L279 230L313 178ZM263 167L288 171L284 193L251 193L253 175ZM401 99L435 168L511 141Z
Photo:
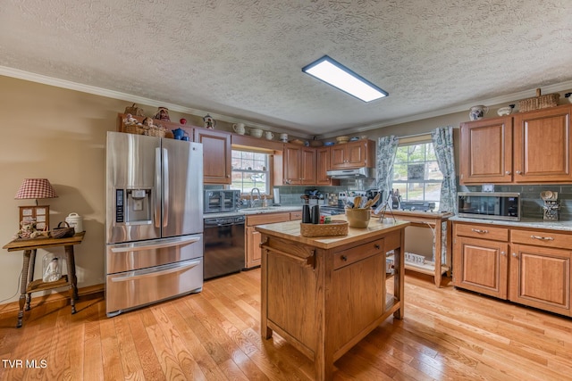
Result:
M442 180L430 136L416 142L400 141L393 162L391 188L399 190L402 201L429 201L439 210Z

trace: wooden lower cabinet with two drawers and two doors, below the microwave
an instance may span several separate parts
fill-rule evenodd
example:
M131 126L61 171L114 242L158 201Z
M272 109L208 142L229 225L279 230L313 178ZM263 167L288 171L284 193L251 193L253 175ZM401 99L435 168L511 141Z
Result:
M572 316L572 236L491 224L454 227L454 286Z

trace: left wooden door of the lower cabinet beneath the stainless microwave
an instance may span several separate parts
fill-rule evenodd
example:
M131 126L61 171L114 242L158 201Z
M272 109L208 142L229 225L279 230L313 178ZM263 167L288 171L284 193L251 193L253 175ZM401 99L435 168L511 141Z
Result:
M509 244L457 237L453 250L453 284L507 299Z

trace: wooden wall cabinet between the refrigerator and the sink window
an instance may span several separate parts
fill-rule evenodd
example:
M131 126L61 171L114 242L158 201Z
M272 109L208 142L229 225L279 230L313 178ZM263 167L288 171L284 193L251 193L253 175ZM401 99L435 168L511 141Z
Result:
M194 141L203 144L205 184L231 184L231 134L195 128Z

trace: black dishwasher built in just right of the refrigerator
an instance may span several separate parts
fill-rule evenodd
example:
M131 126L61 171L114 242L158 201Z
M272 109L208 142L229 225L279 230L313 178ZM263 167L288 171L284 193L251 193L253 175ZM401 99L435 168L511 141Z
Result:
M205 218L203 278L244 269L244 216Z

